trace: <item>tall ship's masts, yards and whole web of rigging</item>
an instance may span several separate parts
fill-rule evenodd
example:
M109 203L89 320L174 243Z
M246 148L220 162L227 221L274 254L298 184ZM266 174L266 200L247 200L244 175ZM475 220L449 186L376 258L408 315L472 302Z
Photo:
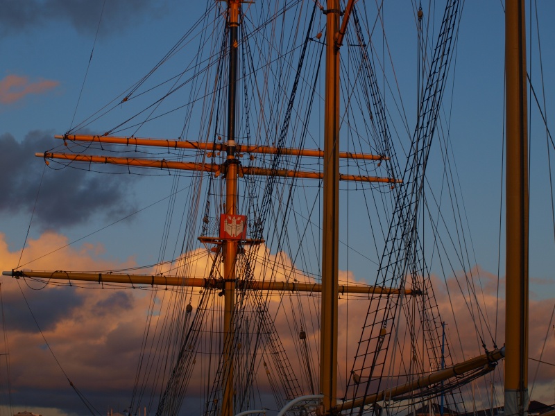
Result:
M460 2L446 2L437 39L425 52L403 168L379 88L386 83L380 85L376 76L360 2L277 3L210 3L189 37L126 90L112 110L135 101L143 107L101 134L92 133L99 128L93 123L109 112L94 114L55 136L64 151L36 153L47 164L100 166L108 173L169 173L169 213L186 181L189 193L181 218L176 222L167 214L164 225L164 239L179 228L181 246L176 243L169 259L161 254L139 272L17 266L3 274L140 288L152 291L152 311L166 296L161 291L170 291L163 319L149 312L145 324L148 336L128 407L133 415L143 408L146 412L146 403L148 414L156 415L416 415L434 401L441 401L442 416L444 404L464 413L466 386L497 374L505 356L505 414L526 414L523 2L506 2L507 103L515 103L514 108L507 105L506 234L511 243L506 299L518 306L507 308L505 346L484 340L485 332L475 324L482 331L477 336L481 354L461 359L446 340L423 225L428 217L432 254L449 257L451 248L437 242L445 219L429 207L435 195L429 191L427 169L440 130ZM422 31L422 8L415 17ZM187 69L170 78L169 87L151 82L148 77L193 39L199 50ZM201 48L207 46L203 54ZM162 85L162 98L141 104ZM157 112L161 117L182 109L171 100L184 85L190 95L182 106L182 134L160 139L137 133L157 120ZM167 103L173 110L160 107ZM518 134L513 137L513 132ZM355 191L362 196L351 197ZM350 204L358 205L352 214ZM356 250L344 243L353 232L352 226L341 227L347 222L345 205L345 212L355 217L352 222L366 225L355 225L355 232L372 234L357 236ZM511 211L509 205L517 208ZM456 227L459 220L454 220ZM168 247L164 244L161 253ZM373 264L373 270L362 269L368 272L364 281L343 272L345 253L351 251ZM342 339L345 331L355 330L349 327L348 302L357 302L356 313L364 311L355 318L356 343ZM278 316L286 307L291 314L282 320ZM482 324L485 318L477 313L476 319ZM156 358L160 353L163 358Z

